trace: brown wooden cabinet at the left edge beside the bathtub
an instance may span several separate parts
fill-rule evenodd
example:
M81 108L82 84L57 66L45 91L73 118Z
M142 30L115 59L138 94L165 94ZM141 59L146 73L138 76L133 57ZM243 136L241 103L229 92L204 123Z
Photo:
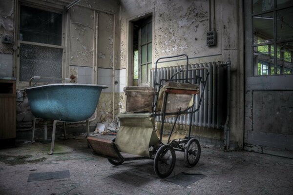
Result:
M16 137L16 80L0 79L0 139Z

